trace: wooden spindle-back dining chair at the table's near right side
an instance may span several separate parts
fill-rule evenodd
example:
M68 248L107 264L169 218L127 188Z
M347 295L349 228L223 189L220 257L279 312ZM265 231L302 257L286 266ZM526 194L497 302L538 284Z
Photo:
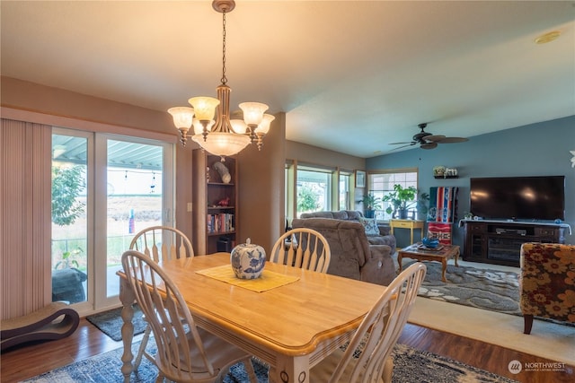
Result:
M403 270L377 300L345 351L336 350L310 370L312 382L391 382L391 356L425 278L426 266L416 262Z

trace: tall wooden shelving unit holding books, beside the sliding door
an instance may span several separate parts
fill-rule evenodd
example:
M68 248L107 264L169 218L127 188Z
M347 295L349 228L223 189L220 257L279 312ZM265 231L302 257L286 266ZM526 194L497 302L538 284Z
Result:
M194 252L197 255L229 252L238 238L237 161L226 157L223 162L231 178L225 182L214 166L221 162L219 156L196 149L192 158Z

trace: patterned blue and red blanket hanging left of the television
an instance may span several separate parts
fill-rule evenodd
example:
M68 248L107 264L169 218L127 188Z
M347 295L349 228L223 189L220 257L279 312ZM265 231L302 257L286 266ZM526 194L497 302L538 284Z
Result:
M458 190L458 187L429 188L428 235L444 245L451 245Z

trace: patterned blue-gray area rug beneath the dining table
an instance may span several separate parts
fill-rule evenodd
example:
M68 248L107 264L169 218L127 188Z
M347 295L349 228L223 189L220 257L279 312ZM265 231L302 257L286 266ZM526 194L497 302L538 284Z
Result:
M136 352L138 344L134 344ZM154 352L155 344L151 342L147 349ZM84 361L69 364L57 370L49 371L37 377L24 380L26 383L72 383L72 382L93 382L110 383L121 382L120 357L122 349L113 350L109 353L102 353ZM268 382L268 369L258 361L254 361L254 370L259 383ZM155 366L144 359L137 372L131 376L132 383L152 383L155 382L157 370ZM415 350L404 344L397 344L394 349L394 383L413 382L515 382L489 371L476 369L465 365L459 361L453 361L442 356ZM249 382L247 374L243 368L243 363L232 366L230 373L224 379L225 383ZM324 383L324 382L312 382Z

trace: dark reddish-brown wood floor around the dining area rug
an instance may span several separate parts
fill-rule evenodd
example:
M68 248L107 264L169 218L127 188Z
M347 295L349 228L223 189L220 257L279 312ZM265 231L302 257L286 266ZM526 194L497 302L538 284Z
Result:
M138 335L135 340L141 339ZM495 335L494 335L495 336ZM554 362L526 353L517 353L493 344L442 333L425 327L408 324L403 330L399 343L413 348L437 353L456 361L489 370L498 375L529 383L561 383L575 381L575 367L565 366L562 372L526 372L513 375L508 370L509 361ZM84 318L75 334L52 342L30 344L13 348L0 355L0 381L17 382L43 372L54 370L66 364L81 361L99 353L106 353L122 347Z

